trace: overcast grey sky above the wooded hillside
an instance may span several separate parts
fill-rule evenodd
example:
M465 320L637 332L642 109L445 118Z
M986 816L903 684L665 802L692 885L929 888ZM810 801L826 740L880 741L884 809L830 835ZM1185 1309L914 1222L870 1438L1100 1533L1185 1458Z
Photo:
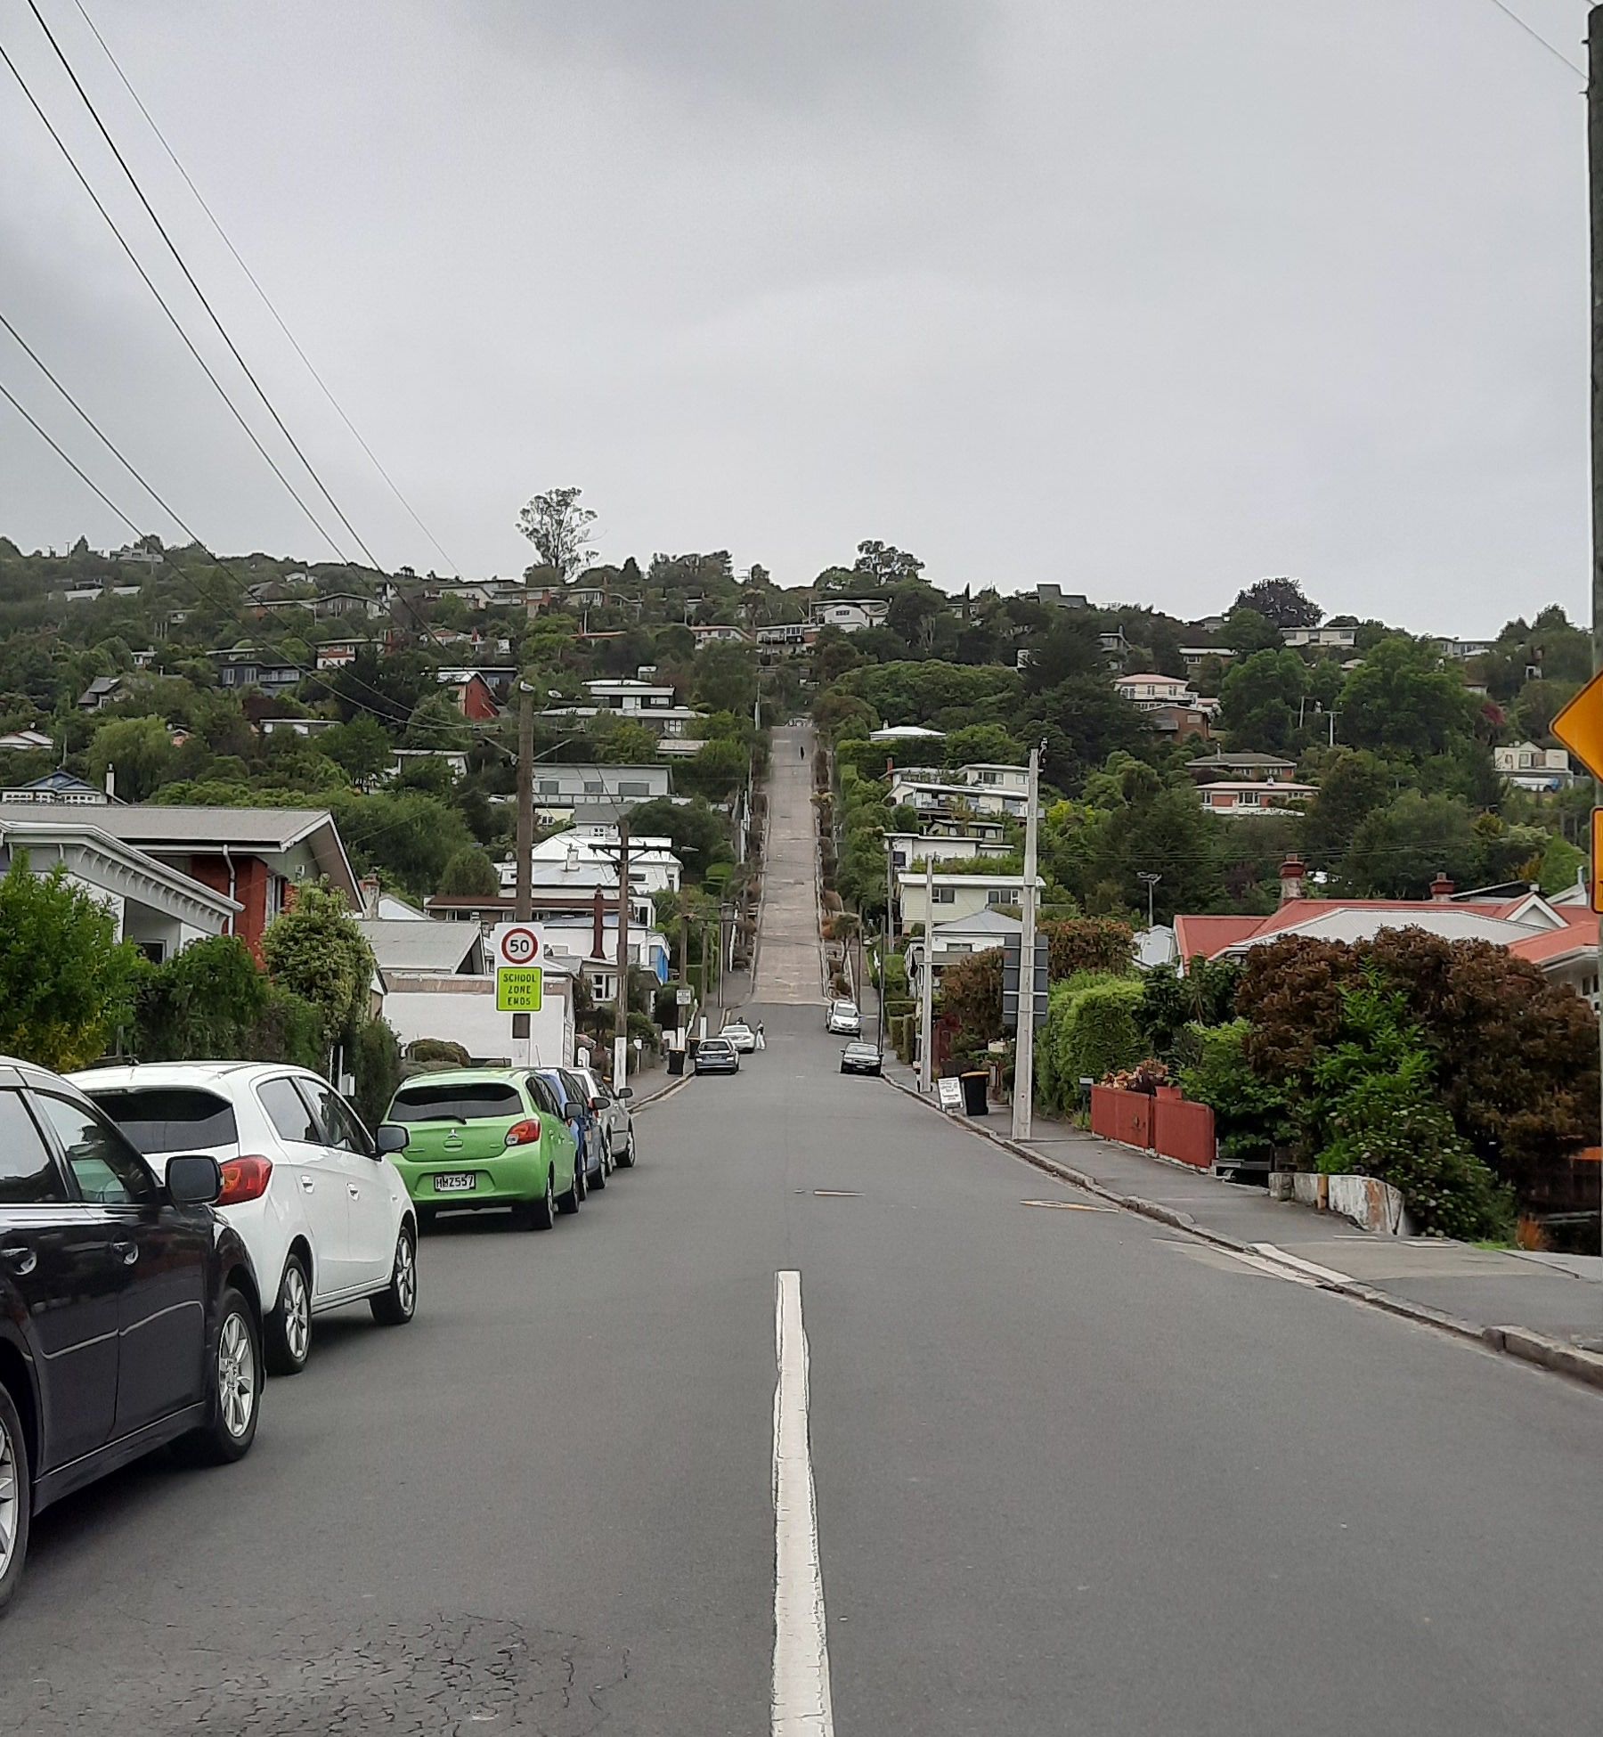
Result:
M1584 61L1584 0L1513 3ZM1181 615L1586 613L1580 80L1492 0L85 5L469 575L575 483L608 559L782 584L881 537ZM356 528L443 570L40 7ZM174 283L26 0L0 42ZM3 68L0 165L0 309L207 540L327 558ZM0 380L174 535L3 334ZM0 532L123 537L3 403Z

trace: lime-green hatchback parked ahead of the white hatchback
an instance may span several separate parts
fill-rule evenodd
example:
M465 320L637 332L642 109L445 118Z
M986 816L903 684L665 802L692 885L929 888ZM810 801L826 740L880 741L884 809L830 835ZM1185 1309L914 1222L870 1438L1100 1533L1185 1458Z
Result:
M526 1230L549 1230L584 1200L561 1105L528 1068L420 1073L394 1094L386 1120L412 1136L393 1162L425 1225L439 1212L495 1205L512 1207Z

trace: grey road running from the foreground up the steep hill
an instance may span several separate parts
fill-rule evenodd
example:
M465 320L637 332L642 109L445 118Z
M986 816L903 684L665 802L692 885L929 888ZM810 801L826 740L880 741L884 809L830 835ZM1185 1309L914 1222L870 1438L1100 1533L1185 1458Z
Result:
M639 1169L43 1516L0 1732L1596 1730L1603 1398L842 1079L768 886L768 1049Z

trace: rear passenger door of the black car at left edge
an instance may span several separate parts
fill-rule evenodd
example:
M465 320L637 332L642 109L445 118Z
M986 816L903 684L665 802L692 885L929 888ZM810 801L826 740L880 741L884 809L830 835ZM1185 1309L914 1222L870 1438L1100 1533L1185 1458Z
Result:
M0 1089L0 1303L26 1317L38 1374L43 1464L54 1471L111 1438L122 1261L106 1214L78 1205L21 1091Z

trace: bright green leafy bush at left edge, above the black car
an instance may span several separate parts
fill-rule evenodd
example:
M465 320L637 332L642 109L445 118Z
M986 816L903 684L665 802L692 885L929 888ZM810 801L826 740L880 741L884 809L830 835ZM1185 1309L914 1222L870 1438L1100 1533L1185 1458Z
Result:
M59 863L35 875L14 851L0 881L0 1053L80 1068L134 1011L139 954Z

